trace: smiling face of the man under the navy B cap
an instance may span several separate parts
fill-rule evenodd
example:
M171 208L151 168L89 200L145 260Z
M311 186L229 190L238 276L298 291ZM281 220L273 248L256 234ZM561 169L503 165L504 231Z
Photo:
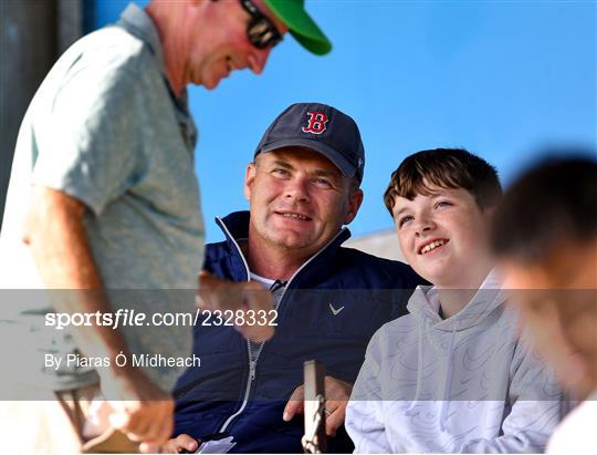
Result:
M311 256L350 223L363 192L323 155L286 147L258 156L247 168L251 241Z

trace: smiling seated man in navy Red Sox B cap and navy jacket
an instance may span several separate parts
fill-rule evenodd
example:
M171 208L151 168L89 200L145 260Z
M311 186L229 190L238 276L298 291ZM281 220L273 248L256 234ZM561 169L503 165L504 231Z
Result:
M344 411L367 343L406 313L409 290L422 282L404 263L341 246L363 201L364 165L356 123L332 106L293 104L268 128L247 166L250 210L217 218L227 239L207 246L205 269L270 289L276 332L254 343L196 327L202 363L175 387L177 437L165 451L203 442L227 452L301 452L303 362L311 359L326 368L328 448L352 449Z

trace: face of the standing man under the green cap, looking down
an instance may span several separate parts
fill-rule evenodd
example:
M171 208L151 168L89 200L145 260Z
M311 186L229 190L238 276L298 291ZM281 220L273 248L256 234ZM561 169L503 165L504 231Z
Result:
M287 27L281 22L261 0L252 0L254 6L284 34ZM250 69L260 74L271 52L271 48L258 49L247 37L247 24L251 15L239 0L210 2L203 21L191 22L190 56L186 68L186 80L214 89L233 70ZM199 23L202 23L200 27ZM206 25L207 24L207 25Z

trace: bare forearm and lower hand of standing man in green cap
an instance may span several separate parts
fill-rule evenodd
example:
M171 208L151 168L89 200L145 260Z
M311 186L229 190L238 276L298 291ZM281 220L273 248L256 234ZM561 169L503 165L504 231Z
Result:
M111 306L90 248L84 214L81 201L61 192L33 188L23 240L31 247L57 311L107 312ZM127 353L124 337L109 327L72 327L71 333L86 355L115 360L121 352ZM134 442L166 442L174 426L171 396L139 369L109 363L111 369L98 370L100 386L109 404L109 425Z

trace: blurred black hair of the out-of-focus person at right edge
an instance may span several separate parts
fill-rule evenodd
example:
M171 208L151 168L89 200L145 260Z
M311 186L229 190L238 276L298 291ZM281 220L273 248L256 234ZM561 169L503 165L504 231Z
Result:
M569 155L541 162L505 193L492 226L495 254L544 261L566 241L597 236L597 161Z

